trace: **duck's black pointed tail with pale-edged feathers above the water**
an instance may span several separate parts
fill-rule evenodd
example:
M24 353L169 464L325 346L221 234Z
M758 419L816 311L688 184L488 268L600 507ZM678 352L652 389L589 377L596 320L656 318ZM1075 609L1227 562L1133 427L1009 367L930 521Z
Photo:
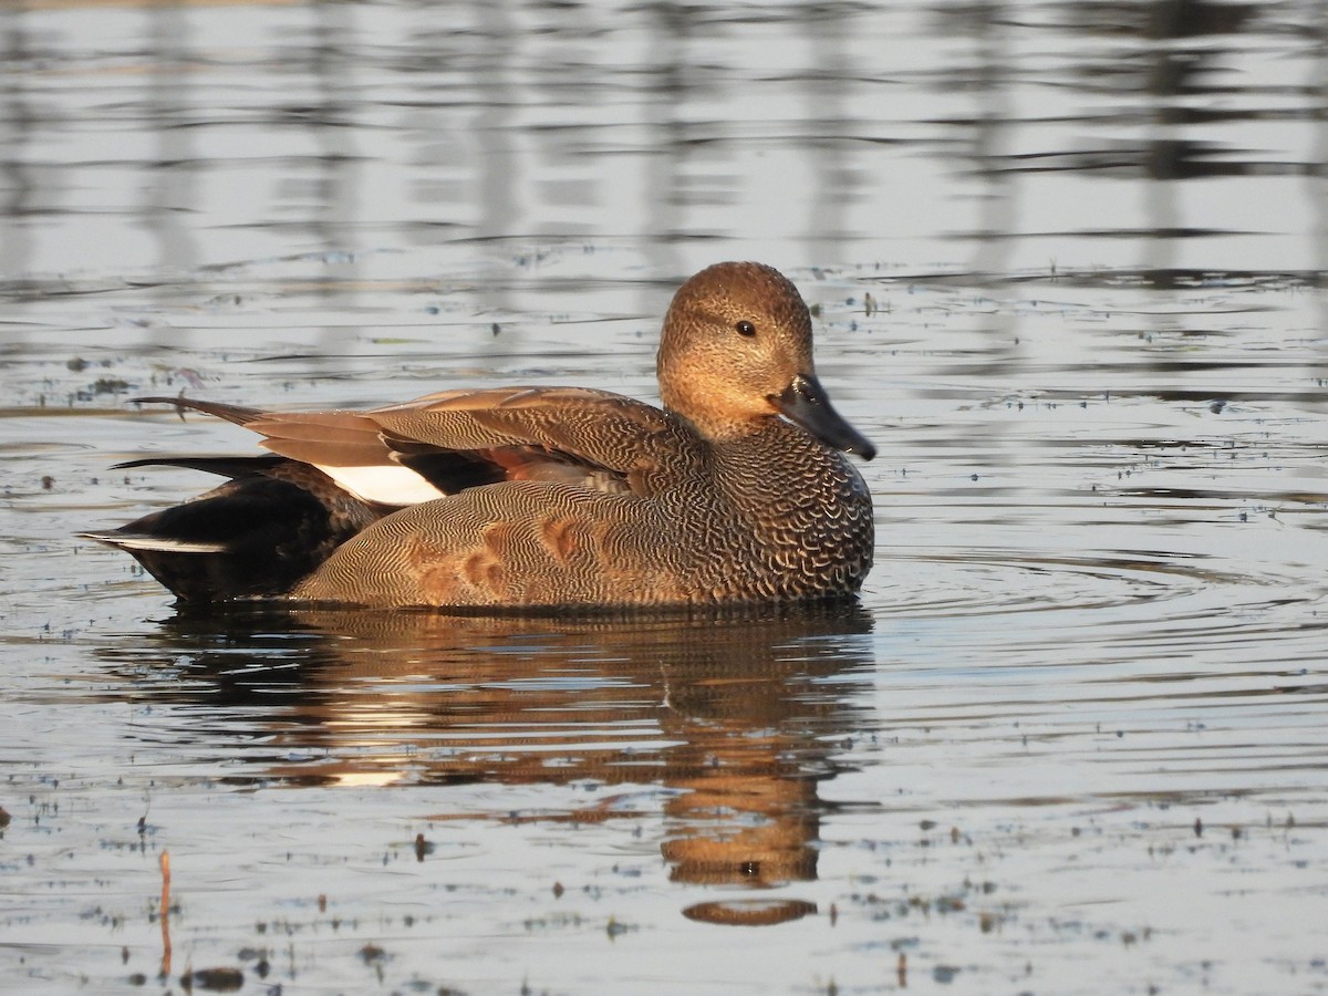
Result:
M282 598L341 543L393 510L286 457L163 457L117 466L230 478L120 529L78 534L130 554L182 602Z

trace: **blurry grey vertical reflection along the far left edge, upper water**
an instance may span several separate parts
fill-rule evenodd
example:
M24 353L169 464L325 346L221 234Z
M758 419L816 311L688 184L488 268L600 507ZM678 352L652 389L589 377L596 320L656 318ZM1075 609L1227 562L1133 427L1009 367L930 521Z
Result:
M4 23L4 60L8 65L24 65L31 57L28 33L21 4L0 8ZM33 210L33 170L24 161L24 153L36 125L36 116L24 90L24 73L4 73L5 86L0 94L0 278L13 278L28 271L32 258L32 235L28 215Z

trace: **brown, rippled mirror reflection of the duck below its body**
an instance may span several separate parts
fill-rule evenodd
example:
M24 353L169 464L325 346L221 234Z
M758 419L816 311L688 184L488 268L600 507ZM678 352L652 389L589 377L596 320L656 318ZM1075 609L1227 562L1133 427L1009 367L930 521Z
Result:
M815 876L818 785L859 725L850 700L869 631L857 607L571 620L299 611L182 615L146 656L141 636L108 652L124 672L131 657L137 696L190 701L198 736L258 733L264 746L244 753L255 778L660 785L675 880L773 886ZM197 706L223 722L199 722Z

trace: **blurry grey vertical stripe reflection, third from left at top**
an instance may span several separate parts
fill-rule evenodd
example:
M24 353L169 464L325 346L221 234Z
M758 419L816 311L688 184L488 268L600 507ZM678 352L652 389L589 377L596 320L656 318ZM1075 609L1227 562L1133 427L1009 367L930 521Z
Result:
M308 116L309 129L319 146L317 175L313 182L313 232L325 254L328 280L320 284L324 297L336 296L339 307L353 307L360 275L363 248L351 242L357 231L356 207L360 202L360 158L355 146L355 108L359 98L348 98L357 88L355 66L360 53L352 5L339 3L312 4L313 52L311 72L316 84L317 105ZM335 309L329 309L335 311ZM323 345L353 336L352 328L327 327Z

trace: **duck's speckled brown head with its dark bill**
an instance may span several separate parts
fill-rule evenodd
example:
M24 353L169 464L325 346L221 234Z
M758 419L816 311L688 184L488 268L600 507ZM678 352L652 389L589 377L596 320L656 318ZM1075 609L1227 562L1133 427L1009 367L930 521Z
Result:
M876 450L830 406L811 363L811 316L782 274L716 263L684 283L659 352L664 406L703 436L732 440L784 416L829 446Z

